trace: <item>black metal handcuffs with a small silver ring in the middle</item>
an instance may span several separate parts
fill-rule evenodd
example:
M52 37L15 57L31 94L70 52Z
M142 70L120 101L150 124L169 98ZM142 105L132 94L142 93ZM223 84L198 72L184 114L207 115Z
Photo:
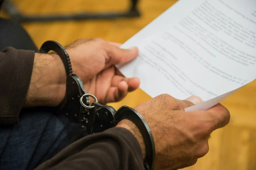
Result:
M123 119L132 121L140 130L146 148L144 159L145 170L153 170L155 159L155 144L151 130L143 117L133 108L122 106L117 111L108 105L98 103L97 98L88 94L84 89L82 80L72 74L70 58L65 48L55 41L46 41L42 44L39 52L48 53L55 51L61 58L66 70L66 94L59 106L61 113L65 114L70 122L81 124L88 134L102 132L114 127ZM89 97L94 102L90 104Z

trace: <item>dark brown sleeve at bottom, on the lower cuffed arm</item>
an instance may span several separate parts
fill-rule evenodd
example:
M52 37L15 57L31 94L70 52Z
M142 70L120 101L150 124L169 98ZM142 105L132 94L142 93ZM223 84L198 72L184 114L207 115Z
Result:
M35 170L142 170L143 158L134 135L110 128L72 143Z

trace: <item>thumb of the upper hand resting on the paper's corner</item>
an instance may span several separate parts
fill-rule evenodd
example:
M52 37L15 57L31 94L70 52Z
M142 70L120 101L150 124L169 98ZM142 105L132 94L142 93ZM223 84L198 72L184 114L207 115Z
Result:
M108 60L106 65L123 64L133 60L138 55L138 48L131 47L129 49L122 49L115 45L109 45L106 49L108 53Z

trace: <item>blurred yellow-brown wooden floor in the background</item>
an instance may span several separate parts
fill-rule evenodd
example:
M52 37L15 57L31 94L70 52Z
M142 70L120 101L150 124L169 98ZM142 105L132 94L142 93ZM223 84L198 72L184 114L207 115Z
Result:
M39 47L46 40L67 45L78 38L125 42L176 0L140 0L140 18L24 23L24 28ZM15 0L24 14L68 13L81 11L123 10L128 0ZM6 16L1 12L1 16ZM142 90L130 93L112 106L135 106L150 99ZM244 86L223 102L230 113L229 125L212 133L209 153L186 170L256 170L256 81Z

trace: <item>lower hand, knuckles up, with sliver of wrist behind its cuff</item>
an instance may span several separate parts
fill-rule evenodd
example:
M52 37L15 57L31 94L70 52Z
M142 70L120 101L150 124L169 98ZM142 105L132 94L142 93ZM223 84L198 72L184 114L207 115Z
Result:
M209 150L210 133L228 124L229 111L221 104L207 111L184 111L194 104L163 94L134 108L144 117L153 134L155 170L180 169L195 164ZM139 129L128 120L122 120L117 127L127 128L135 135L145 156Z

